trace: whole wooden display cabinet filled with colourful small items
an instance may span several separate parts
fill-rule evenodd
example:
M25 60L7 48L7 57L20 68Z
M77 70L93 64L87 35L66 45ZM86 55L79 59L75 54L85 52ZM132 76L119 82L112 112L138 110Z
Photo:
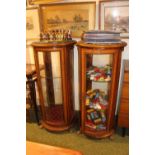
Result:
M121 54L125 42L77 43L79 53L81 132L94 137L111 137Z

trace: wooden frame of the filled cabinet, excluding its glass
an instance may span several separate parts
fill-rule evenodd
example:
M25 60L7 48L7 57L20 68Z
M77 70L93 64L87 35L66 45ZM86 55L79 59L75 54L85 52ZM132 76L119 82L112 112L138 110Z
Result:
M81 132L94 137L105 138L110 137L114 133L114 117L116 109L116 98L120 74L121 54L124 47L127 45L125 42L120 43L108 43L108 44L89 44L83 41L79 41L77 44L79 53L79 82L80 82L80 110L81 110ZM86 59L88 55L93 54L111 54L113 57L112 63L112 80L109 92L108 111L107 111L107 128L104 131L91 130L85 127L86 121L86 106L85 96L88 87L90 89L91 84L87 83L86 70L88 65L92 64L91 59ZM88 62L86 62L88 60ZM90 61L91 60L91 61ZM91 62L91 63L90 63Z

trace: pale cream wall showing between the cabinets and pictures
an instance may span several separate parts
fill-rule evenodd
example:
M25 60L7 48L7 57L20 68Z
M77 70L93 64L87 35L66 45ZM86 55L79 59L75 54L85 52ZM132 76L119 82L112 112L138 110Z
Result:
M94 1L94 0L65 0L65 2L87 2L87 1ZM99 18L99 0L96 0L96 26L95 29L98 30L98 18ZM79 38L73 38L76 41L79 41ZM129 41L128 39L124 39L123 41L127 42L127 47L125 47L124 52L122 54L122 62L123 59L129 59ZM30 46L32 41L27 41L27 54L26 54L26 62L27 63L34 63L33 58L33 49ZM123 64L123 63L122 63ZM122 84L122 70L123 66L121 65L121 73L120 73L120 83L119 83L119 90L118 90L118 98L117 98L117 107L116 112L118 110L118 104L119 104L119 96L120 96L120 90L121 90L121 84ZM74 47L74 87L75 87L75 109L79 110L79 80L78 80L78 51L77 47Z

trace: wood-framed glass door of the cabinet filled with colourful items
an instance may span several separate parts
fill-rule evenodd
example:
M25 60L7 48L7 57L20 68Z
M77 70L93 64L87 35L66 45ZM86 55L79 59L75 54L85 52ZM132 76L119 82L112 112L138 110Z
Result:
M82 130L106 132L111 104L113 54L93 49L81 52Z

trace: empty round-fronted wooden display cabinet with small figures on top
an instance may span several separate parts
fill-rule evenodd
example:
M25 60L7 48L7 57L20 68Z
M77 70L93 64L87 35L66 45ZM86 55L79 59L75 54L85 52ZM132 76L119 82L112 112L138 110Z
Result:
M70 128L74 117L75 41L34 42L41 124L50 131ZM39 67L43 66L42 70Z

